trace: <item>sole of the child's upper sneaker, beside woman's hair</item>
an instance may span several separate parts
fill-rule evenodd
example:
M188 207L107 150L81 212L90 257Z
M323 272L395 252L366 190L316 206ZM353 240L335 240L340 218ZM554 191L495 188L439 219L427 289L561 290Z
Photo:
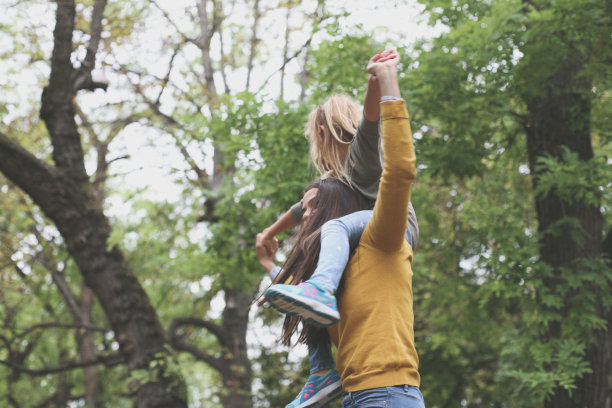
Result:
M340 320L340 314L336 310L308 297L296 298L292 293L279 289L268 289L265 296L279 312L289 316L298 315L313 326L329 327Z

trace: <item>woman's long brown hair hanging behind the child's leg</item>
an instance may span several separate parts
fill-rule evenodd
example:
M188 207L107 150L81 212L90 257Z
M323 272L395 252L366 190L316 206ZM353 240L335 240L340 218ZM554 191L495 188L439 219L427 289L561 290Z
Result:
M295 244L291 248L283 265L283 276L280 281L291 277L291 283L297 285L310 278L319 260L321 249L321 228L325 222L334 218L369 208L367 200L358 192L335 178L317 180L304 192L317 188L318 192L311 201L313 213L307 222L303 222L297 232ZM291 343L291 337L297 331L300 319L297 316L286 316L283 323L281 341ZM298 342L319 343L325 330L304 324Z

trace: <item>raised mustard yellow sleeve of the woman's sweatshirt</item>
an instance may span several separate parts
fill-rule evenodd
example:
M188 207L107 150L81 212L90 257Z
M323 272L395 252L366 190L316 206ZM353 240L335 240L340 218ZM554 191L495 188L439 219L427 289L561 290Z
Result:
M397 251L405 240L410 188L416 179L416 155L406 104L381 102L384 167L374 215L363 239L382 251Z

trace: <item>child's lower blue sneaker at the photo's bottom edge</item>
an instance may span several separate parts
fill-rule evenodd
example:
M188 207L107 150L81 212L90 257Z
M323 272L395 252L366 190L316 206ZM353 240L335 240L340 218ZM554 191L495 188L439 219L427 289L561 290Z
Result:
M311 375L299 395L285 408L322 407L342 395L342 381L335 368L323 375Z

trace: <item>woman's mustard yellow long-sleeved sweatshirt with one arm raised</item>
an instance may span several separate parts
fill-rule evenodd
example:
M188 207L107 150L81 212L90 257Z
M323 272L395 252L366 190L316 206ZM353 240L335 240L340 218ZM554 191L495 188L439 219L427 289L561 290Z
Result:
M374 215L344 272L339 323L329 329L345 391L419 386L413 252L404 238L416 156L403 100L381 103L384 168Z

